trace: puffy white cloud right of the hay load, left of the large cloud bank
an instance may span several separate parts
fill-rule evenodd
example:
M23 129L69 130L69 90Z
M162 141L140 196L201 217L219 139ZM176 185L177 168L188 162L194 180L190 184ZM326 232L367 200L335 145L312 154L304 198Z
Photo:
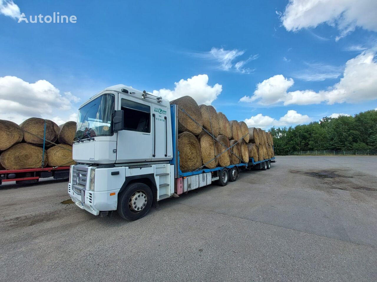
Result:
M293 85L293 79L287 79L282 74L277 74L257 84L254 95L244 96L240 102L253 102L258 100L261 105L271 105L283 101L287 90Z

